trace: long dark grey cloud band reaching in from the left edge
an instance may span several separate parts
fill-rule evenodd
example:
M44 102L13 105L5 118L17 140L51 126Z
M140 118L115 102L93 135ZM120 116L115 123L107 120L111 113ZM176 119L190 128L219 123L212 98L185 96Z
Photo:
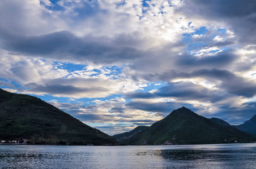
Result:
M62 31L37 36L13 35L2 31L2 48L22 55L63 61L116 63L139 57L140 51L129 45L121 46L108 37L76 37ZM123 41L126 41L123 39ZM118 41L117 41L118 42ZM128 43L128 42L127 42Z

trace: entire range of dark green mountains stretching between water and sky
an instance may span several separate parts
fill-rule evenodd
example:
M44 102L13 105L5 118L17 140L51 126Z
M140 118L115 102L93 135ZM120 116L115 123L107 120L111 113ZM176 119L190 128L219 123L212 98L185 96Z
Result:
M256 115L244 124L232 126L182 107L150 127L138 126L113 137L128 145L250 143L256 141L255 128ZM32 144L119 144L113 137L37 97L0 89L0 140L27 139Z

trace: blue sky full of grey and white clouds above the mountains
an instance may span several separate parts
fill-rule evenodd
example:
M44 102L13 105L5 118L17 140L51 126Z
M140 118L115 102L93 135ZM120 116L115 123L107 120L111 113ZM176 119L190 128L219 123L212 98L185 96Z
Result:
M185 106L256 114L255 0L0 1L0 87L109 135Z

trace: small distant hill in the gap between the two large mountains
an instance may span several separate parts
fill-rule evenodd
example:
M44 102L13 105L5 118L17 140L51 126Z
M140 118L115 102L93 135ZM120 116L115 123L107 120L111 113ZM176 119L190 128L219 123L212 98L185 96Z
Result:
M134 136L138 132L146 130L147 128L149 128L149 126L138 126L138 127L134 128L133 130L131 130L129 132L124 132L122 134L113 135L113 137L115 139L117 139L117 141L120 141L121 143L127 144L126 143L127 139Z

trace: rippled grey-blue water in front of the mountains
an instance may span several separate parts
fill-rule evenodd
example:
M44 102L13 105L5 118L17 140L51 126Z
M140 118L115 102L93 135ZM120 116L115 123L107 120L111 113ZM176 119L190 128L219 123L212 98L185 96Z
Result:
M0 168L256 168L256 144L0 145Z

